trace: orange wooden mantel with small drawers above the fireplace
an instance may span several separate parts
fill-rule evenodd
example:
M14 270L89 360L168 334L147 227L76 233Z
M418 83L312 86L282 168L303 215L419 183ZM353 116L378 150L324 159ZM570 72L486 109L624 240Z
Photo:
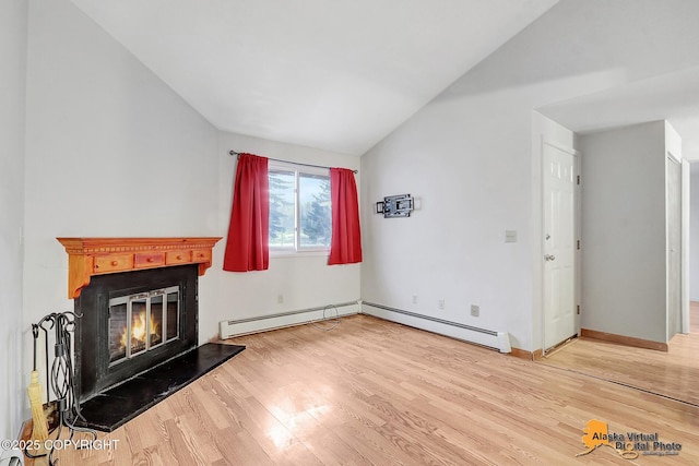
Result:
M74 299L93 275L183 264L199 264L203 275L221 237L56 239L68 252L68 298Z

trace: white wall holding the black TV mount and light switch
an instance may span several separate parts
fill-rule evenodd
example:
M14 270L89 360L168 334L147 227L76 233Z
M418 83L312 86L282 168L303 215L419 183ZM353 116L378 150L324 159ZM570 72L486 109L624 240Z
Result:
M532 109L699 62L699 52L675 51L697 40L699 4L671 3L562 0L365 154L363 298L540 348ZM644 22L641 10L656 14ZM422 198L413 217L370 214L374 202L401 193ZM505 243L507 229L517 243Z

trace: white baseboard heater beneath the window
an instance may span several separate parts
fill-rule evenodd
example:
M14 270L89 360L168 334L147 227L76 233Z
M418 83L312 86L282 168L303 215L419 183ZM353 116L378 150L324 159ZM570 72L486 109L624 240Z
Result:
M335 309L337 310L336 313ZM334 319L335 315L344 316L357 313L359 313L359 302L351 301L340 304L329 304L318 308L301 309L298 311L282 312L279 314L221 321L218 323L218 327L221 332L221 339L225 339L232 336L300 325L308 322L322 321L324 319Z

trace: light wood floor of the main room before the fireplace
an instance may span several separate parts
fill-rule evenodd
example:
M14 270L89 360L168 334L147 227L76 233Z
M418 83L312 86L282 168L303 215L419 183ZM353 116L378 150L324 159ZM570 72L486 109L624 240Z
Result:
M367 315L247 349L60 466L699 464L699 408ZM591 419L674 457L584 451ZM37 463L38 464L38 463Z

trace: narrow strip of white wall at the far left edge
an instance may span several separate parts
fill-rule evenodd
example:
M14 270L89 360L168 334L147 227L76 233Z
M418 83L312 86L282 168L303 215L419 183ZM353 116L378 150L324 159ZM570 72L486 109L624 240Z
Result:
M20 363L26 34L26 1L0 2L0 439L20 433L32 369Z

